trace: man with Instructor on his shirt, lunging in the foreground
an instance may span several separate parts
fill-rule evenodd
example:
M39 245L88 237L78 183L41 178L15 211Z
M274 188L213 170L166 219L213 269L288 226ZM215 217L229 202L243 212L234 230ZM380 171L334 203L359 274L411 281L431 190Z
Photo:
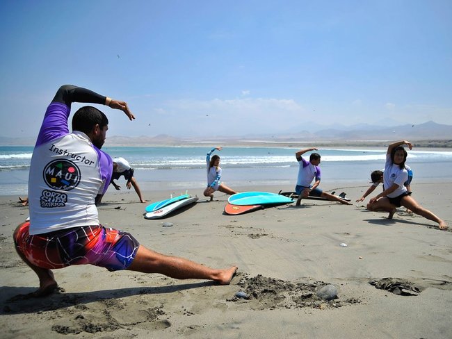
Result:
M95 201L106 191L112 174L112 160L101 151L108 119L97 108L84 106L74 114L70 133L67 119L73 102L104 104L135 119L124 101L74 85L63 85L56 92L31 158L30 221L17 226L13 235L17 253L38 275L40 288L30 297L54 292L52 269L83 264L228 284L235 266L213 269L165 256L140 245L127 232L99 224Z

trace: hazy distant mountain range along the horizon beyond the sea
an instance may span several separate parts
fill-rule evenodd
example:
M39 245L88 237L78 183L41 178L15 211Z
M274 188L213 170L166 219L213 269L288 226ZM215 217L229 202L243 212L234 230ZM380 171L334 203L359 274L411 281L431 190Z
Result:
M307 130L309 126L309 131ZM243 142L332 142L334 144L369 142L388 142L391 140L410 140L412 142L423 140L428 146L442 145L452 147L452 126L437 124L435 122L425 122L423 124L402 126L372 126L369 124L356 124L353 126L320 126L305 124L300 127L293 127L286 133L279 134L248 134L248 135L216 135L204 138L177 138L172 135L156 135L154 137L139 136L125 137L121 135L108 136L106 145L108 146L150 146L150 145L175 145L175 144L195 144L210 142L224 142L230 144L241 144ZM440 141L440 142L439 142ZM26 145L35 143L35 138L3 138L0 137L0 144Z

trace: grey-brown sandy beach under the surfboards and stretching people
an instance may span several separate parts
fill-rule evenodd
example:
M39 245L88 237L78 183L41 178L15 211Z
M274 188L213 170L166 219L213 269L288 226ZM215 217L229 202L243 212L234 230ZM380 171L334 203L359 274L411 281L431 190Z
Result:
M321 187L346 192L354 202L368 185ZM111 189L99 206L104 226L129 231L163 254L211 267L238 265L232 283L82 265L55 270L60 290L42 299L15 297L38 288L13 247L13 230L28 208L16 196L0 197L0 337L452 338L452 183L414 183L412 190L446 220L447 231L405 208L387 220L363 203L303 200L300 207L225 215L227 196L217 192L208 202L202 188L188 192L200 197L197 204L145 220L146 205L133 190ZM180 192L145 191L144 197L152 202L171 194ZM381 287L385 278L392 278L386 288L369 283ZM337 288L337 299L317 297L327 284ZM236 297L240 291L248 297Z

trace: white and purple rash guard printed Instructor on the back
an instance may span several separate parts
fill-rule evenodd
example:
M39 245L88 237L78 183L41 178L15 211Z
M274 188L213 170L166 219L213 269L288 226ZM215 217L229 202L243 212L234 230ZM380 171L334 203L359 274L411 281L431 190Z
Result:
M71 102L101 104L105 97L74 86L58 93L45 113L29 174L30 234L99 225L95 197L110 183L113 163L81 132L69 132ZM69 89L68 89L69 88ZM77 92L79 91L79 92Z

